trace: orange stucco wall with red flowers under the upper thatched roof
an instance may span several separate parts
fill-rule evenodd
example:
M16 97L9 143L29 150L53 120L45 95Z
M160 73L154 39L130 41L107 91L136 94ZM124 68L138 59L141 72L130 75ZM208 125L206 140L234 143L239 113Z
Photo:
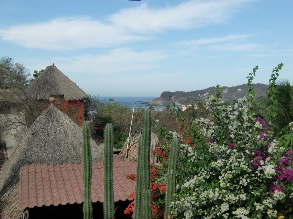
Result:
M84 124L84 101L79 100L72 103L65 100L63 95L55 98L55 106L71 118L79 127L82 127ZM48 105L50 105L49 101Z

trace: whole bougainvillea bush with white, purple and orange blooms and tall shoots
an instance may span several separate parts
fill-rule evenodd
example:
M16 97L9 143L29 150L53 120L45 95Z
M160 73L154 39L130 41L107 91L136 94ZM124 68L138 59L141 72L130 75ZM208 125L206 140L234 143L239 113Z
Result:
M274 87L282 65L274 69L270 80L272 105L265 119L253 112L251 83L257 68L248 76L247 97L234 105L221 101L219 85L216 96L208 94L211 120L188 124L176 112L181 132L172 134L180 138L181 146L173 218L293 218L293 149L292 141L288 143L293 124L282 130L281 138L268 125L276 116ZM164 147L168 163L169 144ZM162 181L166 172L156 177Z

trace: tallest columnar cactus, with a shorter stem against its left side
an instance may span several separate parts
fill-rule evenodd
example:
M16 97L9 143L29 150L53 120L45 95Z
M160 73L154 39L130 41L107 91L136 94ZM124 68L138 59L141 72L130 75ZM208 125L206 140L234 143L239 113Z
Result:
M137 148L137 175L135 186L134 219L151 218L151 183L150 170L151 147L151 111L144 113L142 137L139 138Z

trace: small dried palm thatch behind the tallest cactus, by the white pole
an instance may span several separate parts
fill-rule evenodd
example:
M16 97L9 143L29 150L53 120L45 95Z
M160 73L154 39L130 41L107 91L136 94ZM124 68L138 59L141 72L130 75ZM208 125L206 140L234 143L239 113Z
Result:
M140 135L142 135L142 129L135 130L130 134L127 158L137 159L137 146L138 146L138 139ZM120 154L124 156L126 155L127 141L128 141L128 138L124 142L123 148L120 152ZM150 152L151 162L154 162L154 163L158 162L158 158L156 154L153 152L153 150L158 150L158 146L159 146L159 138L156 134L152 132L151 133L151 152Z

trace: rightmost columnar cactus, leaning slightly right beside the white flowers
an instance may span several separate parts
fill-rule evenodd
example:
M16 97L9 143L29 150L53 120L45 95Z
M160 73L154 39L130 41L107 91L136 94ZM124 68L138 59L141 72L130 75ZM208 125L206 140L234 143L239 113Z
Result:
M169 157L169 166L168 166L168 180L167 180L167 189L166 189L166 201L165 201L165 219L168 219L170 215L170 206L173 201L173 196L175 192L175 177L177 172L178 165L178 155L179 155L179 143L178 138L174 137L171 143L171 152Z

